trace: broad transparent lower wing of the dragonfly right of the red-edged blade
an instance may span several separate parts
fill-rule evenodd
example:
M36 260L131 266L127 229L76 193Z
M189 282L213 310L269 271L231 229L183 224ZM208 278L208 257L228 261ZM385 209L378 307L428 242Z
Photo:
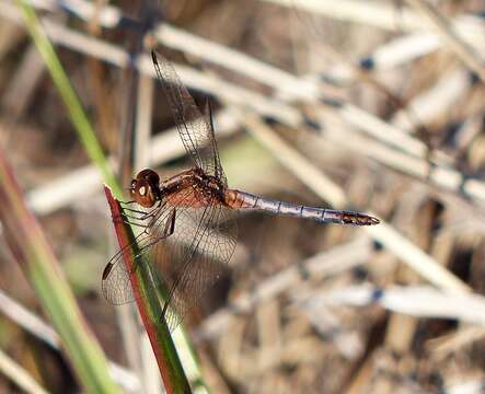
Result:
M177 208L174 233L155 247L159 270L168 279L170 331L223 273L236 244L235 215L222 205Z

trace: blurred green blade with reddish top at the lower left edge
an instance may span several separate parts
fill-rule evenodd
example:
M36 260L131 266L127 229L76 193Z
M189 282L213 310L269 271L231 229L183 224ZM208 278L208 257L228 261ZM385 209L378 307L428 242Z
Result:
M0 150L0 221L7 243L32 283L88 393L115 393L107 362L62 270Z

